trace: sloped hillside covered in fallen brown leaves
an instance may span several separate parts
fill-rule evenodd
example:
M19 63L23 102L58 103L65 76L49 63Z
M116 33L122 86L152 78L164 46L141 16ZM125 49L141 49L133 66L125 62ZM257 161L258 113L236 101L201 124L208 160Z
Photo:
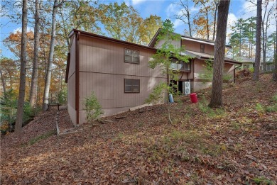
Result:
M58 138L55 111L38 116L23 138L1 138L1 184L276 184L277 83L241 80L224 88L224 107L188 96L85 124ZM62 130L70 128L66 111Z

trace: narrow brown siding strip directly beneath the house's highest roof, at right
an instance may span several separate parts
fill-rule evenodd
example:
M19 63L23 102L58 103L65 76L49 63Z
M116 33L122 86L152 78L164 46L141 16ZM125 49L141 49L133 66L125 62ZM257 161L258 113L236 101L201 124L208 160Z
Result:
M200 44L196 41L192 40L182 40L182 45L185 45L185 50L201 52L200 51ZM205 44L205 53L207 54L214 54L214 45L207 45Z

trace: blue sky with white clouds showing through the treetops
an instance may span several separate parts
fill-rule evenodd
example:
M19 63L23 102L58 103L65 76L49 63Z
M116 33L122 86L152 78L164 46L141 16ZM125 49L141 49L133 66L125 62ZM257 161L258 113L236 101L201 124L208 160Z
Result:
M114 0L115 1L115 0ZM100 0L101 3L114 2L109 0ZM169 18L174 23L175 33L184 33L185 26L181 21L175 20L174 15L180 11L179 6L176 4L179 0L117 0L118 2L124 1L127 5L134 6L139 11L141 17L146 18L151 14L161 16L162 20ZM270 4L274 4L273 0L270 0ZM275 0L277 1L277 0ZM199 9L192 4L189 0L190 10L197 13ZM13 11L21 11L13 10ZM253 4L245 0L231 0L228 16L228 28L227 33L231 33L231 26L237 21L238 18L249 18L256 16L256 7ZM1 18L0 27L0 43L1 43L1 57L13 57L12 53L3 45L3 40L9 36L11 32L21 30L21 25L16 23L8 23L9 19L5 17ZM33 28L28 27L28 30ZM276 30L275 20L272 21L271 26L268 28L268 33L273 33ZM227 40L228 43L228 40Z

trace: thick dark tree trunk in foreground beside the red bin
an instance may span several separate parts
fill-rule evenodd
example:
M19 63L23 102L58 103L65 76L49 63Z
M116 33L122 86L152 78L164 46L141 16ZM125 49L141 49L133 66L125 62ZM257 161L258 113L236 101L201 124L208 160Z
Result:
M212 98L210 107L222 106L222 84L223 84L223 68L225 56L225 43L227 32L227 19L229 12L230 0L219 1L217 16L217 37L214 44L214 72L212 78Z

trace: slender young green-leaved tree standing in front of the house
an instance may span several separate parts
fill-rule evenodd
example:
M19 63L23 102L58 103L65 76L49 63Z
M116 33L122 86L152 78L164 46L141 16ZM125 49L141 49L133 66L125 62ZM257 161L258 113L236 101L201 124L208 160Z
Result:
M167 84L160 84L159 87L163 88L167 94L172 94L174 91L174 86L171 82L173 80L178 80L179 71L170 69L170 66L176 62L188 62L190 57L180 55L179 53L183 51L183 47L175 47L172 44L173 40L180 40L181 35L173 33L173 23L170 20L165 20L163 22L163 27L161 32L157 36L157 43L163 40L163 45L158 48L156 54L152 55L153 60L149 61L149 67L154 69L155 67L161 67L161 72L167 75ZM155 91L153 92L155 93ZM169 104L169 101L168 101ZM168 120L172 123L170 118L170 106L168 106Z

